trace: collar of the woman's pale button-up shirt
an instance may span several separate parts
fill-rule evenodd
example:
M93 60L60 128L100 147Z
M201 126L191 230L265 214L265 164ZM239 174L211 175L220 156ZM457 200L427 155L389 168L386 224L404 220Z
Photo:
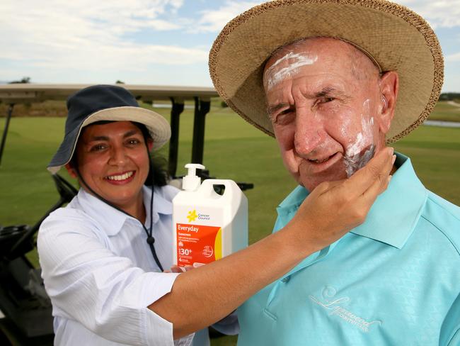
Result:
M159 188L155 188L154 192L154 212L150 213L151 189L146 186L142 187L144 206L146 206L146 225L148 227L150 227L150 216L153 217L153 224L155 224L159 221L159 214L168 215L173 211L171 201L165 199L163 194L159 193L157 189ZM97 197L88 194L84 189L80 189L77 198L84 212L100 223L105 233L109 236L119 233L127 219L139 222L136 218L127 216L127 214L113 208L113 206L109 206Z

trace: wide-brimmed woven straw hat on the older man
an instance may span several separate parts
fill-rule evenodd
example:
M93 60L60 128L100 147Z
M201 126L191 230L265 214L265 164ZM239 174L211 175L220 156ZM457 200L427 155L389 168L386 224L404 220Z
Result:
M444 62L432 28L405 6L384 0L275 0L226 24L209 53L212 82L236 113L274 136L262 84L271 53L301 38L340 38L399 74L396 111L386 142L420 125L441 92Z

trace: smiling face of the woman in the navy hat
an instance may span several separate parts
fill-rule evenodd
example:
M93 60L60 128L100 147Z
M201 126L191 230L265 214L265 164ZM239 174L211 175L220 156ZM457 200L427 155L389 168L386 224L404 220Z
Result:
M149 150L151 145L149 141ZM88 185L124 211L142 203L142 186L149 174L149 155L144 136L136 125L130 121L88 125L80 135L74 155L84 189L85 184ZM66 167L77 177L74 169Z

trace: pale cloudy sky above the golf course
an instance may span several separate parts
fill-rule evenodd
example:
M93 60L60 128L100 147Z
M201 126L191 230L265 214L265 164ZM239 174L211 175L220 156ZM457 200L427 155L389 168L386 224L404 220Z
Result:
M0 83L212 86L209 49L262 1L1 0ZM460 92L460 0L398 0L423 16L444 52L442 91Z

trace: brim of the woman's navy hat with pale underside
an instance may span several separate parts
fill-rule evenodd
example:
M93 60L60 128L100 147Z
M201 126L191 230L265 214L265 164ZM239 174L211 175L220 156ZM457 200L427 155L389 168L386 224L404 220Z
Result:
M171 138L171 127L159 113L133 106L105 108L87 116L78 127L65 135L59 149L48 164L47 169L52 174L57 173L62 166L70 162L81 129L97 121L134 121L144 124L154 140L152 150L159 149Z

